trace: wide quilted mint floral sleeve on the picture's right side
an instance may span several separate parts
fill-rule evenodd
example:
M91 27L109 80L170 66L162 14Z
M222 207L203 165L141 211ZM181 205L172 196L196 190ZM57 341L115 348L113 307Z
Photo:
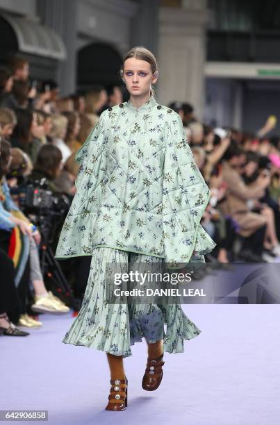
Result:
M210 190L199 171L178 114L165 124L163 243L165 262L205 263L216 244L200 224Z

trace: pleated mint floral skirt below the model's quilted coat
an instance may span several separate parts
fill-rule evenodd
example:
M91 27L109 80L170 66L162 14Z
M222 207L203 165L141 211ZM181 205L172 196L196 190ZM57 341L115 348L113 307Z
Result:
M88 284L79 314L62 342L98 349L115 356L131 356L131 345L163 339L163 351L182 353L183 341L201 332L183 313L179 303L108 303L106 264L127 265L137 270L143 263L162 263L163 258L109 247L93 251ZM129 267L129 269L128 269Z

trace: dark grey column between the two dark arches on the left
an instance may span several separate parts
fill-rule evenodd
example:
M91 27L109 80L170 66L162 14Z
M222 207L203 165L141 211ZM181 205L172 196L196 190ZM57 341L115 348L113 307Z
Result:
M58 65L60 94L66 95L76 89L76 0L38 0L38 15L42 24L53 28L65 43L67 59Z

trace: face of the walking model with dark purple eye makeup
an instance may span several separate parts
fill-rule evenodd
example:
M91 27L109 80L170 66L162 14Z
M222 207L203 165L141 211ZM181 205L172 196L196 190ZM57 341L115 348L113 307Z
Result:
M132 96L142 96L151 90L151 84L157 78L151 72L151 65L146 60L129 58L124 62L124 82Z

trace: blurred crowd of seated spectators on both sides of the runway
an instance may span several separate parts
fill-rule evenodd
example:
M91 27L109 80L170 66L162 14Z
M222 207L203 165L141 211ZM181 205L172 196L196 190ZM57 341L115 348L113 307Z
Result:
M46 288L40 264L42 231L26 215L16 189L24 181L42 185L53 197L67 199L69 208L79 171L75 153L101 112L122 100L117 85L96 85L85 94L60 97L55 81L32 81L28 62L19 56L0 70L2 333L28 335L17 326L40 327L38 313L69 311L67 301ZM206 262L227 267L234 261L277 261L280 136L272 135L276 118L269 117L252 134L202 124L189 103L175 101L169 107L181 116L195 162L211 190L201 224L217 246ZM78 299L87 283L89 260L70 260L65 270L74 274L71 286Z

